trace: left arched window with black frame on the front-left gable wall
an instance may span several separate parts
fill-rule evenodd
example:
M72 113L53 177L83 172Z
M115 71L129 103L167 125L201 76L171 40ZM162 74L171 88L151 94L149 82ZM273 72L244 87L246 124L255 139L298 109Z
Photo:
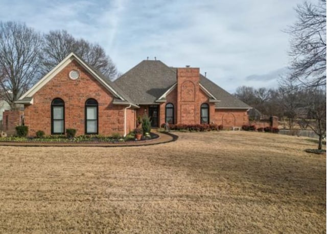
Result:
M61 98L51 102L51 134L65 134L65 103Z

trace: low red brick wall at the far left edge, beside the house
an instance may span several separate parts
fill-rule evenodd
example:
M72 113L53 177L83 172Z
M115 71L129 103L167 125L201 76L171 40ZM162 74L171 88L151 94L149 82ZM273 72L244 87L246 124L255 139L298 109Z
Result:
M7 133L8 136L15 135L16 126L22 124L21 117L24 115L23 111L4 111L2 130Z

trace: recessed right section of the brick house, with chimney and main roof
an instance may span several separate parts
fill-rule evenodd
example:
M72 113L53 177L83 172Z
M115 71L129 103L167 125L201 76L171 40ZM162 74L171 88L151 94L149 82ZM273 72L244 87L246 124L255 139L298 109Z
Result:
M168 67L144 60L114 81L147 113L152 126L162 123L216 123L224 127L248 124L251 108L200 74L199 68Z

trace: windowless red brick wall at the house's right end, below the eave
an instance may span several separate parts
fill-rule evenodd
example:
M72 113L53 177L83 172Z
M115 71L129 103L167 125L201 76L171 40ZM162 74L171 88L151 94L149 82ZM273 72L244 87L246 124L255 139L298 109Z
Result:
M216 109L213 119L216 124L222 124L224 127L241 127L249 124L247 110Z

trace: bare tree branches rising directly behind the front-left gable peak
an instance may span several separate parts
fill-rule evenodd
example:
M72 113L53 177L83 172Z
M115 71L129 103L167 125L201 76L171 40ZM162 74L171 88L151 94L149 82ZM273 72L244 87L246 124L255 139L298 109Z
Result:
M116 66L100 45L84 39L77 40L65 30L45 34L42 50L43 74L49 72L69 53L74 52L110 80L116 77Z

